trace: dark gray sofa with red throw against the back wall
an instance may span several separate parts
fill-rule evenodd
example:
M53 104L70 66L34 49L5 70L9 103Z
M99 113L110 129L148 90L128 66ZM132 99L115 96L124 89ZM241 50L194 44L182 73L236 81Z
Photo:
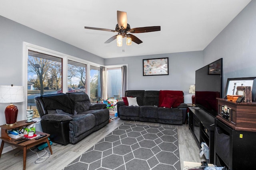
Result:
M182 125L182 123L186 122L188 106L184 104L182 91L127 90L124 96L136 97L139 106L125 106L123 101L117 102L118 117L120 119L175 125ZM176 108L158 107L168 96L179 98L182 104Z

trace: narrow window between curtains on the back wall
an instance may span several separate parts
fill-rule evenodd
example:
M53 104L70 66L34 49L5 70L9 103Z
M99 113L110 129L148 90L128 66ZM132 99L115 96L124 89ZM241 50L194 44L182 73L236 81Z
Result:
M107 68L108 98L122 98L122 70L121 68Z

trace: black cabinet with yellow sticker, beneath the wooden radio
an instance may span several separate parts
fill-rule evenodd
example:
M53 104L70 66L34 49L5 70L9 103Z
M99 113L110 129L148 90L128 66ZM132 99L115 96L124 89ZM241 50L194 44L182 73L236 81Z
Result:
M229 170L256 167L256 132L237 131L216 119L214 164Z

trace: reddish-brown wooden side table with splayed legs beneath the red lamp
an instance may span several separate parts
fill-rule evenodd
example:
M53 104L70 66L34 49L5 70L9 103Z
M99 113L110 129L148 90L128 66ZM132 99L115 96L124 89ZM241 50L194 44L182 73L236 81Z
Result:
M1 125L0 126L1 127L1 135L2 135L0 137L0 139L2 139L2 143L1 143L1 147L0 147L0 158L1 158L2 150L4 148L4 143L8 143L10 145L18 147L18 148L23 150L23 169L24 170L26 169L27 149L30 149L31 147L39 145L40 143L46 142L48 144L48 147L49 147L50 152L52 154L52 148L51 148L50 142L48 140L48 137L50 136L50 134L48 134L48 133L43 133L43 132L36 131L37 134L46 135L46 137L43 137L43 138L38 139L38 140L31 139L29 141L25 141L25 142L20 143L20 144L17 144L18 143L18 141L16 141L17 139L12 139L7 134L7 130L15 129L15 128L18 128L18 127L23 127L23 126L28 126L32 123L34 123L34 122L26 123L26 120L24 120L24 121L18 121L16 123L16 125L12 125L12 126L9 126L9 125Z

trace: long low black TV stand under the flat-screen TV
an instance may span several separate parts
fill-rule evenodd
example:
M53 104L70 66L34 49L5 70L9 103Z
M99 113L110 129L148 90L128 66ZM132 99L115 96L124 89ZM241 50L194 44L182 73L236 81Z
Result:
M214 117L212 117L199 107L189 107L188 127L191 130L193 136L195 137L199 148L201 148L202 142L205 142L208 145L208 163L211 164L214 163L214 120Z

